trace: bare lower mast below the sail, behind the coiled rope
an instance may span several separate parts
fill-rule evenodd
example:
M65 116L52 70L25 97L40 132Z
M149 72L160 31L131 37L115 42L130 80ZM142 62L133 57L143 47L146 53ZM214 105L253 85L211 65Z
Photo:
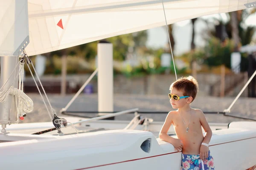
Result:
M12 71L15 69L17 65L19 57L1 57L1 74L0 74L0 88L7 81ZM16 75L19 74L19 66L10 77L9 81L5 84L1 91L8 89L12 84ZM14 84L12 84L15 88L18 87L18 78L16 78ZM2 124L2 128L6 128L6 124L14 123L17 121L17 109L14 97L9 95L5 103L0 103L0 124Z

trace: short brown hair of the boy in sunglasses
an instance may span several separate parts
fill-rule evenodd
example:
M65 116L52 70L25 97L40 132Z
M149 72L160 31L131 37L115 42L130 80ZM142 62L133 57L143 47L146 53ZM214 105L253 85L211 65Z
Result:
M182 77L171 84L170 90L172 88L183 91L184 96L191 96L193 98L192 101L194 101L198 93L198 82L193 76Z

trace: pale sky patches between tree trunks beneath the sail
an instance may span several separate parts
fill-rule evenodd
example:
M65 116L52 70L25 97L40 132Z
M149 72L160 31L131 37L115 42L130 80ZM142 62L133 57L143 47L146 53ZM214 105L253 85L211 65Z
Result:
M212 20L212 18L222 18L227 21L226 14L213 14L201 17L203 19ZM256 14L250 15L247 20L245 20L247 26L256 26ZM207 29L207 24L204 21L197 20L195 23L195 45L204 46L204 40L201 34L204 33L204 29ZM173 35L175 38L175 51L174 55L181 55L184 52L190 50L191 35L192 35L192 23L191 20L184 20L174 24ZM254 35L256 38L256 34ZM154 29L148 29L148 41L147 46L152 48L161 48L169 44L167 37L166 26L157 27ZM169 48L169 46L167 46Z

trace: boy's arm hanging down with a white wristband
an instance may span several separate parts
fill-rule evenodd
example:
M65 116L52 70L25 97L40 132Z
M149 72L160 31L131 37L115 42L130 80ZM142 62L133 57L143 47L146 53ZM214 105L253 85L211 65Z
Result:
M201 122L201 125L202 127L204 128L204 131L205 131L205 135L204 135L204 140L202 143L205 143L205 144L209 144L211 138L212 138L212 130L206 120L206 117L204 115L204 113L202 112L202 110L198 109L199 111L199 115L200 115L200 122ZM208 158L208 150L209 150L209 147L208 146L205 146L205 145L201 145L200 147L200 158L204 161L204 159Z

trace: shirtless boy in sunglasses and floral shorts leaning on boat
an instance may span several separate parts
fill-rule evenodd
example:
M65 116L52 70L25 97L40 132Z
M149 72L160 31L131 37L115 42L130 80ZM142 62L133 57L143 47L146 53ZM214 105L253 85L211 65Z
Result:
M214 170L208 147L212 130L204 113L190 107L198 93L198 82L192 76L180 78L172 83L170 91L170 103L177 110L168 113L159 138L171 143L178 152L182 150L181 170ZM167 135L171 125L177 138Z

